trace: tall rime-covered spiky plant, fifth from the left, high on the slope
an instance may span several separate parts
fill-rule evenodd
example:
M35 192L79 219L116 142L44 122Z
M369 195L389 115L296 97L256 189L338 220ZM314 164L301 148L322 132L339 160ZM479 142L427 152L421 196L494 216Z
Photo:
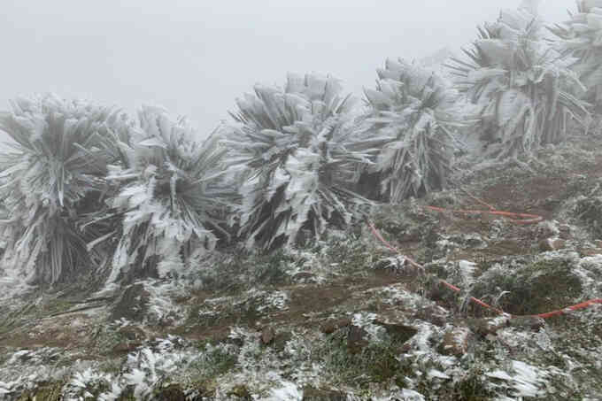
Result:
M569 122L588 119L575 96L575 73L542 40L541 23L525 9L502 11L450 67L459 89L478 105L486 157L506 158L559 143Z

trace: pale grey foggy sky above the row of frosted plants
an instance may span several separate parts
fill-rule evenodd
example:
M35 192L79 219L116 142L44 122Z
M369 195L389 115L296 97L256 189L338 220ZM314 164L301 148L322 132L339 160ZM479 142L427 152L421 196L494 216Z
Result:
M459 50L519 0L2 0L0 109L56 92L187 115L208 135L256 82L331 73L357 94L386 58ZM544 0L566 19L573 0Z

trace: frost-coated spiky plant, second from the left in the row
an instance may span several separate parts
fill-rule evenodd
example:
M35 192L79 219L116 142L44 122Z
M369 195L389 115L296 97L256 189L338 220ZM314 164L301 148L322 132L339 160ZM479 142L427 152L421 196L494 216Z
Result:
M210 137L202 145L184 120L159 107L143 106L129 143L118 142L120 164L109 166L116 188L112 214L118 238L108 282L132 268L159 275L187 266L191 251L211 250L226 238L223 212L235 194L223 181L225 149Z

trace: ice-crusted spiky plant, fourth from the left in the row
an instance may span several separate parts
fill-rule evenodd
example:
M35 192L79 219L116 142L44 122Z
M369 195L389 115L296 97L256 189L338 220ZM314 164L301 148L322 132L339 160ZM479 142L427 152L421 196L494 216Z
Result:
M452 157L450 88L436 73L401 59L387 60L377 73L376 89L365 89L363 135L381 150L362 181L380 185L390 203L444 188Z

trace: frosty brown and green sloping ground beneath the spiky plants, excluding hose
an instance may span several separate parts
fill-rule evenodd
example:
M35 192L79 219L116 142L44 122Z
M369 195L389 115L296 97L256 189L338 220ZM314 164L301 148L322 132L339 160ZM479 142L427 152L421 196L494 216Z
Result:
M529 315L601 298L600 173L595 136L460 168L451 189L374 213L400 254L358 225L103 293L96 277L42 291L0 274L0 399L602 399L602 305L541 320L468 301ZM544 220L425 207L483 209L467 192Z

